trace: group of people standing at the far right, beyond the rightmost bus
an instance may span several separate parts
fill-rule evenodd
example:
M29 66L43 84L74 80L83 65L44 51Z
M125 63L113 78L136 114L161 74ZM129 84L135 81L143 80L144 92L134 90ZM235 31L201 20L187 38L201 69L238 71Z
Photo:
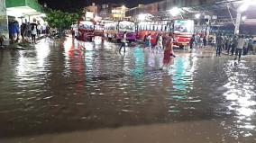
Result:
M254 54L253 49L253 39L250 36L244 35L233 35L233 36L223 36L222 33L218 33L216 37L216 56L220 57L222 50L226 50L227 54L235 56L238 60L241 60L241 56L247 55L250 51Z

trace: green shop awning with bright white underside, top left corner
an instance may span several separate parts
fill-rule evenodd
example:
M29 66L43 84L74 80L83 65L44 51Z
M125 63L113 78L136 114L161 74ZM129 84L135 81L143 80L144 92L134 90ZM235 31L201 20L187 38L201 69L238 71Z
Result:
M41 5L36 0L6 0L5 5L7 15L15 17L43 13Z

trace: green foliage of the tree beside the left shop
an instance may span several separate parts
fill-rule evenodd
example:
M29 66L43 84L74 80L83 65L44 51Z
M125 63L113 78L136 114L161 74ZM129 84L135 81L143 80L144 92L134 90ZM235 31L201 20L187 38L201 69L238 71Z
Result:
M56 10L49 10L44 20L48 22L51 28L59 31L68 30L72 23L78 22L79 13L67 13Z

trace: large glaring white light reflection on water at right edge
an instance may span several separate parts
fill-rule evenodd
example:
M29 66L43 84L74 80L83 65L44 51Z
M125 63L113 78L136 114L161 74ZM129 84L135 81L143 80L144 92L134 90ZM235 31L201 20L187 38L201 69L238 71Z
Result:
M238 128L254 130L255 126L251 124L251 116L255 114L255 110L252 108L256 105L252 99L256 94L254 91L255 83L251 76L246 74L249 67L246 67L245 64L240 63L237 67L230 65L233 65L233 61L229 61L226 69L224 69L229 77L228 82L224 85L227 89L224 96L230 102L228 108L238 115L236 121ZM250 132L243 133L244 137L249 137L250 134Z

